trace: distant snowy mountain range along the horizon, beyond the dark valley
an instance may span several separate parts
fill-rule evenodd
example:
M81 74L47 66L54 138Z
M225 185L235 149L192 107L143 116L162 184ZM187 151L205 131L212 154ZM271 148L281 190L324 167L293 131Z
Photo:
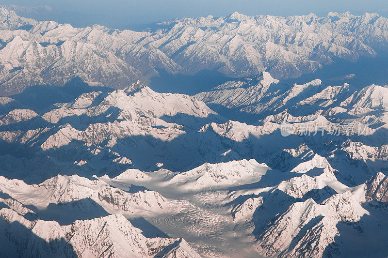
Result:
M10 10L8 10L10 9ZM387 18L329 13L278 17L182 18L155 31L74 28L36 21L0 7L0 94L26 86L62 86L75 76L123 89L169 74L217 70L229 77L262 70L278 78L315 72L335 60L373 58L388 50Z

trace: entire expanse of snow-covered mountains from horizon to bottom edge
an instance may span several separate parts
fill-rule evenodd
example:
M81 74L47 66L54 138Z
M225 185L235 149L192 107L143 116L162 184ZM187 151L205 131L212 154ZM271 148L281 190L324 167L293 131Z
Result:
M385 51L386 19L159 26L0 8L0 256L386 257L387 86L283 80ZM160 93L158 69L241 78Z

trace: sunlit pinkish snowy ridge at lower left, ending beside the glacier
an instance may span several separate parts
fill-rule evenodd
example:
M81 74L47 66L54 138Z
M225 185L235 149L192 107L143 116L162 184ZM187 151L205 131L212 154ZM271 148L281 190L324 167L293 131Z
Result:
M129 216L157 214L168 210L168 201L157 192L139 191L130 194L102 181L90 181L77 175L58 175L39 185L28 185L20 180L0 177L0 190L25 204L41 209L50 203L66 204L75 201L80 201L78 205L84 208L93 206L94 201L108 211L122 212ZM35 198L31 198L32 196Z

